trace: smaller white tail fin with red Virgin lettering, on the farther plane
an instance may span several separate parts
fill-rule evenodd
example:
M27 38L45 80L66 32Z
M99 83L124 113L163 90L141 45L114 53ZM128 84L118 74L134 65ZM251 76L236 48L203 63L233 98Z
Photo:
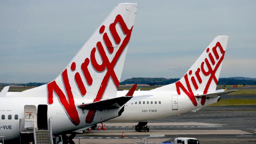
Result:
M178 94L181 90L186 94L215 92L227 42L228 36L215 37L179 81L153 90L177 90Z

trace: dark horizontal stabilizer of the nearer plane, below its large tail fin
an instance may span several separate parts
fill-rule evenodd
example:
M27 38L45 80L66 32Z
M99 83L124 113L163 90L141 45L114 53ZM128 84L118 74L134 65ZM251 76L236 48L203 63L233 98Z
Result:
M119 98L111 98L108 100L101 100L98 102L92 103L85 103L78 105L80 109L87 109L87 110L98 110L102 111L104 109L116 109L120 108L126 102L128 102L132 97L131 96L122 96Z

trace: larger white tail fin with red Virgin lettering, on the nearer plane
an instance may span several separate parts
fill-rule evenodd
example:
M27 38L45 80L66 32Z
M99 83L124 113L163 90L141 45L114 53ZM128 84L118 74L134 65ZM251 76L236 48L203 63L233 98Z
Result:
M118 4L56 79L15 96L47 97L48 104L59 100L73 124L78 125L75 98L97 102L117 96L137 7ZM89 111L87 123L94 114Z

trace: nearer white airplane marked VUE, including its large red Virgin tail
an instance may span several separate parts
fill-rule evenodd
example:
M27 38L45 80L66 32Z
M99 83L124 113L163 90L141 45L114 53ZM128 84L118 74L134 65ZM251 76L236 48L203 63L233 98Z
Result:
M53 81L11 94L6 87L0 93L0 136L19 138L20 118L33 118L40 129L50 118L52 133L63 134L120 116L131 99L116 96L137 7L118 4Z

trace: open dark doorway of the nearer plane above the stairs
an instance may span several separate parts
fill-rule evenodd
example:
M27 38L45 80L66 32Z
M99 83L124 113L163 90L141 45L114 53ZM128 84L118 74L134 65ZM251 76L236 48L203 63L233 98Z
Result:
M48 110L48 105L38 105L37 107L38 129L48 129L47 110Z

